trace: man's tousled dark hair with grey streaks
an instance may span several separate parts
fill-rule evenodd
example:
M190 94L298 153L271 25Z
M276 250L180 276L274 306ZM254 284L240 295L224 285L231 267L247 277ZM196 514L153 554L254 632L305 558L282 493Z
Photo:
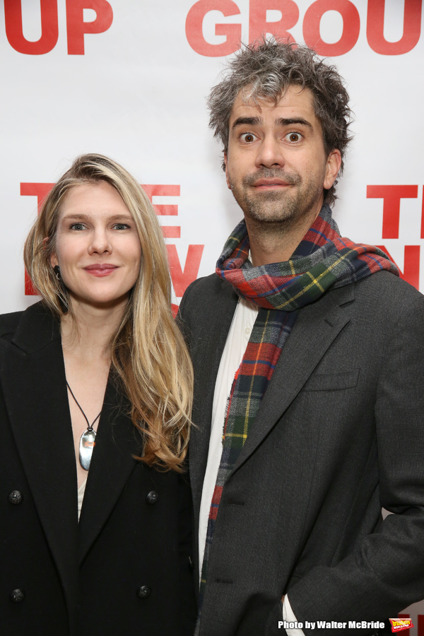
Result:
M281 99L289 86L309 88L314 99L314 112L322 125L326 154L337 148L341 153L341 169L346 147L352 137L349 95L335 66L325 64L312 49L295 42L256 40L243 45L223 71L223 79L214 86L208 98L211 112L209 126L228 150L230 114L237 95L244 90L246 101ZM225 169L225 165L223 165ZM336 183L324 192L326 203L336 200Z

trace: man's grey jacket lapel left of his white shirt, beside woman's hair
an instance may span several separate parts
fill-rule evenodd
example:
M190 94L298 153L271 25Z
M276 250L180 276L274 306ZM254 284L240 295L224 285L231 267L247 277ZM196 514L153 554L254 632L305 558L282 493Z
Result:
M211 305L208 310L209 302ZM208 459L216 376L237 302L238 296L232 286L221 281L216 296L205 299L206 307L204 309L208 315L208 324L207 326L201 325L201 342L199 346L192 347L191 351L194 367L192 419L196 425L192 428L190 437L189 464L193 500L198 504L201 499L201 489Z

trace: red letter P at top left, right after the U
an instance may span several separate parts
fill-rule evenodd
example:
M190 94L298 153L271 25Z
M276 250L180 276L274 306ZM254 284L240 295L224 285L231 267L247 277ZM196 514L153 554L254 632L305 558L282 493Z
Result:
M11 0L14 1L14 0ZM95 11L93 22L84 22L84 9ZM84 54L84 34L104 33L113 20L112 7L107 0L66 0L66 28L69 55Z

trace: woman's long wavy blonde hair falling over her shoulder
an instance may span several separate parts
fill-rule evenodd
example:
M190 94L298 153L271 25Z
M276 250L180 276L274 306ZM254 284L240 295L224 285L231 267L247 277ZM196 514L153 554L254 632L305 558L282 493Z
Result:
M143 434L143 456L138 459L149 466L182 471L192 409L192 363L172 317L162 231L136 179L103 155L76 158L42 204L25 241L25 267L49 310L59 320L66 311L72 314L69 293L50 264L59 212L71 188L100 181L122 196L134 218L142 252L139 278L112 336L111 370L131 403L131 420Z

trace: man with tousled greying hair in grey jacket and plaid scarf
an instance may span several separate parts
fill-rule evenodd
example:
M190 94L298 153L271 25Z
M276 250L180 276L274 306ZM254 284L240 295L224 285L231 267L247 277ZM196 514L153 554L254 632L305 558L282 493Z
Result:
M350 117L334 67L256 43L209 106L245 220L180 307L197 634L378 633L424 596L424 297L331 218Z

